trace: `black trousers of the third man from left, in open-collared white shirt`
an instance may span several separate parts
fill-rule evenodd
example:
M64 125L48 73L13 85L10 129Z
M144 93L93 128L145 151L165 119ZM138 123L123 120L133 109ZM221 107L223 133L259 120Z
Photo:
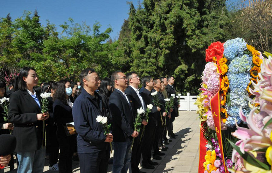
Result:
M143 133L143 125L141 125L141 131L139 133L139 136L137 136L134 139L134 144L133 144L133 148L132 148L132 152L131 152L131 171L132 173L137 173L138 171L140 171L140 169L138 168L140 161L141 161L141 153L142 153L142 144L143 144L143 138L141 140L140 143L140 139L141 139L141 134Z

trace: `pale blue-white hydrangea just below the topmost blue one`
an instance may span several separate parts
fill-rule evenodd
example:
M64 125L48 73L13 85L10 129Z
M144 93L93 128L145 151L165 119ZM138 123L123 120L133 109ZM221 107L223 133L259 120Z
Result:
M229 73L249 72L251 69L252 57L244 54L241 57L234 58L228 66Z

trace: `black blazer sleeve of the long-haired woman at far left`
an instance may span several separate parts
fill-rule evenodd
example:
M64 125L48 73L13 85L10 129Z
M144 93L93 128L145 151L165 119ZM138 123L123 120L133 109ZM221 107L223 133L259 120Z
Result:
M19 95L12 94L9 98L10 104L8 107L8 121L14 124L31 124L37 122L37 113L20 112L20 98ZM28 104L28 103L26 103ZM27 106L27 105L23 105Z

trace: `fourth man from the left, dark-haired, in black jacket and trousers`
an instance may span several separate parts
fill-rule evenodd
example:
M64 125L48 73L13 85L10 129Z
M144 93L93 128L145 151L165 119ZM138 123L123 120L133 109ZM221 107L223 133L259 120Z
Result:
M156 126L158 125L157 119L158 119L158 115L159 111L160 111L160 107L155 107L154 103L153 103L153 97L151 95L151 90L154 87L154 81L153 78L151 76L144 76L142 78L142 84L144 88L141 88L141 96L144 99L144 102L146 105L152 104L153 108L151 110L151 112L148 114L148 124L145 127L145 131L144 131L144 137L142 138L143 140L143 149L142 149L142 156L143 156L143 160L142 160L142 166L143 168L147 168L147 169L154 169L154 165L158 165L157 162L153 162L151 161L151 150L154 144L154 139L155 139L155 129Z

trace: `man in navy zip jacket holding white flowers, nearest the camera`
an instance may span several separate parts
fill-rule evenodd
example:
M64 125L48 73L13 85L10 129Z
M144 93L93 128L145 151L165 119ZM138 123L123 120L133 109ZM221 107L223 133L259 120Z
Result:
M102 98L96 93L99 77L94 69L88 68L80 78L83 88L73 104L80 172L106 173L109 159L106 149L113 136L111 133L105 136L102 125L96 122L98 115L105 116Z

